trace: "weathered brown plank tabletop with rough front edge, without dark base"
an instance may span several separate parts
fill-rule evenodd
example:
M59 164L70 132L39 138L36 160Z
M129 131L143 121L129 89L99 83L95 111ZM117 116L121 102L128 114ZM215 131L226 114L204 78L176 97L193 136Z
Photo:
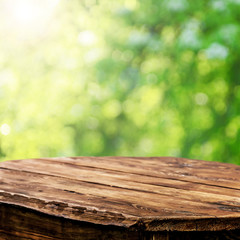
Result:
M240 229L240 166L173 157L7 161L0 204L133 230Z

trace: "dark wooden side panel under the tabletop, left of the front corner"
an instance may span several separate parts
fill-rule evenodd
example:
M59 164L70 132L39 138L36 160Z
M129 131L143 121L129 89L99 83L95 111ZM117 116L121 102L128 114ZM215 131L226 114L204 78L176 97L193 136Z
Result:
M0 204L1 240L137 240L139 233L59 218L37 211Z

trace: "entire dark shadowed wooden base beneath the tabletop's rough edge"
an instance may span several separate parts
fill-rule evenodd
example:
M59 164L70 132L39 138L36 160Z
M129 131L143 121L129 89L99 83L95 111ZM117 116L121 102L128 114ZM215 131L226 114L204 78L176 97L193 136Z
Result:
M56 217L24 207L0 204L1 240L230 240L240 239L231 231L131 231Z

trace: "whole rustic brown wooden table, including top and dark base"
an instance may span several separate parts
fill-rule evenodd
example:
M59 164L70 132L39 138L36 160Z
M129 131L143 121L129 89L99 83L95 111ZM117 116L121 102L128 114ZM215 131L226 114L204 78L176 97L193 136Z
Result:
M240 167L172 157L2 162L0 239L240 239Z

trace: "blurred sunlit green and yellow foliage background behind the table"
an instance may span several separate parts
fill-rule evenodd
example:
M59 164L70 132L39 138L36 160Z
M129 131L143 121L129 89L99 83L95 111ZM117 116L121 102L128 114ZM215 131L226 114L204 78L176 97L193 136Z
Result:
M240 164L239 0L0 0L0 159Z

